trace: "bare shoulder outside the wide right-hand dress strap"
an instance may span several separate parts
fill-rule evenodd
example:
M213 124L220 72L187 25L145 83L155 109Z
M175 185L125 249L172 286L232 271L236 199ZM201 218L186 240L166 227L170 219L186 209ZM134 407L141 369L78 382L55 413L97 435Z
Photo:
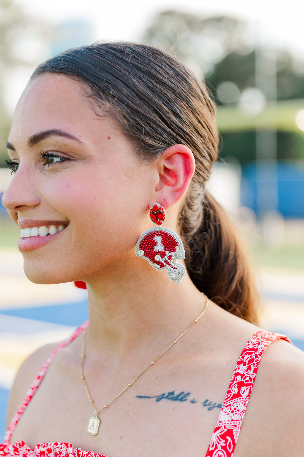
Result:
M248 457L303 455L303 386L304 352L284 340L269 345L258 367L239 438L240 448L252 449Z

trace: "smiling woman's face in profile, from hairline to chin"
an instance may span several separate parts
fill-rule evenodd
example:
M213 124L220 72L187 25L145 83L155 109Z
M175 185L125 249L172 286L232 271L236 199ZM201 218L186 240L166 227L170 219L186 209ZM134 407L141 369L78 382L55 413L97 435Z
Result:
M3 196L10 216L20 228L65 227L19 240L32 282L89 281L119 269L118 260L121 268L137 261L157 170L139 161L110 117L95 113L79 82L43 74L29 83L9 155L18 164Z

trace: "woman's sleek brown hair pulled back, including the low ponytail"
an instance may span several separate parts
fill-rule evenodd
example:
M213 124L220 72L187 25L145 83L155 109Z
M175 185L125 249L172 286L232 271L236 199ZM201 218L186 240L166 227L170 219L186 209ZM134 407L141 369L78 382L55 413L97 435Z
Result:
M192 150L196 171L180 214L187 270L215 303L255 321L255 287L239 235L205 191L218 146L215 104L205 83L170 54L136 43L69 49L39 65L32 78L45 72L83 81L86 95L108 107L143 159L173 144Z

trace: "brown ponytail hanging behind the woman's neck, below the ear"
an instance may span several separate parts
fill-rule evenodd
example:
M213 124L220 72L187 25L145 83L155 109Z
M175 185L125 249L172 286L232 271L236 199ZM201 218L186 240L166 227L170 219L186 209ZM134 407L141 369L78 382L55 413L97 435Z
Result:
M258 293L240 234L225 210L205 195L201 225L187 240L186 265L192 282L214 303L257 322Z

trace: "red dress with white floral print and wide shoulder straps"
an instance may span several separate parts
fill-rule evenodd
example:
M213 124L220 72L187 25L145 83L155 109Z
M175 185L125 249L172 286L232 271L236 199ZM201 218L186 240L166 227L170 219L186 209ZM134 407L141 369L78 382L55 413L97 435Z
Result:
M38 443L34 449L31 449L23 441L17 441L14 444L10 443L10 438L14 433L21 415L39 387L53 358L60 349L74 340L87 325L88 322L85 322L78 327L67 341L64 341L52 352L41 367L20 408L10 422L9 428L5 433L4 441L0 444L0 457L106 457L101 454L95 454L94 452L82 451L80 448L73 449L70 443ZM259 362L265 349L273 341L280 339L291 343L287 336L264 330L259 330L247 341L234 369L205 457L233 457Z

